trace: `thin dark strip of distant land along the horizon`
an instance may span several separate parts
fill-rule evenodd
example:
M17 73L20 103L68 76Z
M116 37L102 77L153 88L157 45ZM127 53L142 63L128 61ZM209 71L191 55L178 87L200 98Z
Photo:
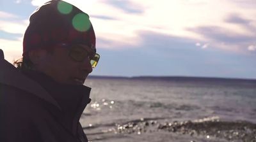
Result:
M214 77L195 77L195 76L88 76L92 79L116 79L116 80L163 80L173 82L247 82L256 83L256 79L244 78L214 78Z

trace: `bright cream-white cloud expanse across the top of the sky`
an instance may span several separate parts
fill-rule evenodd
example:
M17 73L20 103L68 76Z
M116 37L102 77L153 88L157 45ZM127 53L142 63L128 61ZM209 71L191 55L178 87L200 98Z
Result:
M255 5L254 0L245 0ZM47 1L33 0L38 6ZM256 9L240 6L243 1L223 0L67 0L90 15L101 48L120 48L143 44L139 31L208 43L212 48L233 52L248 51L244 47L255 42ZM218 12L216 12L218 11ZM109 41L107 45L106 41Z

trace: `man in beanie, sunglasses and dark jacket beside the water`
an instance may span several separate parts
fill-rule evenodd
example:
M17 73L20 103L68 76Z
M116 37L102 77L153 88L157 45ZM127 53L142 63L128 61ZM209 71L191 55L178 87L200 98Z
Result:
M88 141L79 118L91 89L83 83L99 61L89 17L52 0L29 22L16 67L0 54L0 141Z

